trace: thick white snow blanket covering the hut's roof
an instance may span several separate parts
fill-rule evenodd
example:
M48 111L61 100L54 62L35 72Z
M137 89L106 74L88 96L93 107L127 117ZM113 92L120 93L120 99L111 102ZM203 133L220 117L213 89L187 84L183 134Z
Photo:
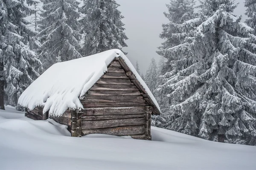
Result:
M18 104L30 110L42 106L44 113L49 110L53 116L61 116L68 108L83 108L79 97L107 72L108 65L117 57L127 64L160 111L148 86L119 49L52 65L20 95Z

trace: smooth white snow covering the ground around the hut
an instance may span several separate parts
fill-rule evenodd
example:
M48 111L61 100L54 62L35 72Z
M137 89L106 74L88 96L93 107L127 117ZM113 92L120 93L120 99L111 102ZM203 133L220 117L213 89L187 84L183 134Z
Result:
M152 127L152 140L87 135L0 111L0 170L255 170L256 147L206 141Z

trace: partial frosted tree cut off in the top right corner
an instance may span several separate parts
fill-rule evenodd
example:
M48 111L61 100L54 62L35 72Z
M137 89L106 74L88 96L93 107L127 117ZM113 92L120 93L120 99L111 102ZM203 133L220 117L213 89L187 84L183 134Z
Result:
M254 35L256 35L256 1L245 0L244 6L247 8L245 14L249 17L245 23L254 29Z

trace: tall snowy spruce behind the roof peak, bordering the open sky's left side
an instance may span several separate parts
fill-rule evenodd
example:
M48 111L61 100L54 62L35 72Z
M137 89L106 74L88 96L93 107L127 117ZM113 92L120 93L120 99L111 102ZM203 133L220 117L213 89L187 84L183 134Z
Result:
M122 14L115 0L84 0L81 20L84 26L83 55L93 55L109 49L126 47Z

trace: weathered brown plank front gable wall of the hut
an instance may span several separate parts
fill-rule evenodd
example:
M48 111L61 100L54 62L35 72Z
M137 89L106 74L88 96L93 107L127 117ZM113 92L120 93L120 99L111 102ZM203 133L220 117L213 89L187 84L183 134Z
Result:
M143 94L119 61L113 61L108 72L81 99L84 107L81 124L73 128L81 134L75 132L74 136L102 133L151 139L152 108Z

